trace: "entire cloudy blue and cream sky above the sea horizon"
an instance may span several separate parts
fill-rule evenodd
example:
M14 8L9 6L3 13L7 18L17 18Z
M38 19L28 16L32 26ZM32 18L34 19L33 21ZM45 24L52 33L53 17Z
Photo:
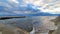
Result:
M0 16L60 14L59 0L0 0Z

